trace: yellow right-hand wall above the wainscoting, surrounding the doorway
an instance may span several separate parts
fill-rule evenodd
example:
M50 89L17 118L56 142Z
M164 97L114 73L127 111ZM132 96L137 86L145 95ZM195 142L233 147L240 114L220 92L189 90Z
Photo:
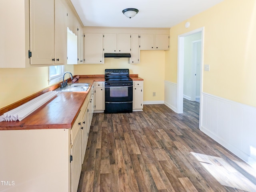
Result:
M185 28L189 21L190 27ZM172 27L165 80L177 82L178 35L204 27L203 92L256 107L256 1L224 0Z

